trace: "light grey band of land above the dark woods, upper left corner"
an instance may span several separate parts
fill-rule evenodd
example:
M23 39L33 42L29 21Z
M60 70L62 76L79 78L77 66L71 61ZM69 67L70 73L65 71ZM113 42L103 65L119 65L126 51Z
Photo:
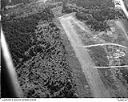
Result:
M21 17L27 17L34 15L36 13L41 13L44 11L44 9L47 9L46 5L44 3L34 2L34 3L28 3L28 4L20 4L16 7L3 10L2 13L2 20L12 20L16 18Z

